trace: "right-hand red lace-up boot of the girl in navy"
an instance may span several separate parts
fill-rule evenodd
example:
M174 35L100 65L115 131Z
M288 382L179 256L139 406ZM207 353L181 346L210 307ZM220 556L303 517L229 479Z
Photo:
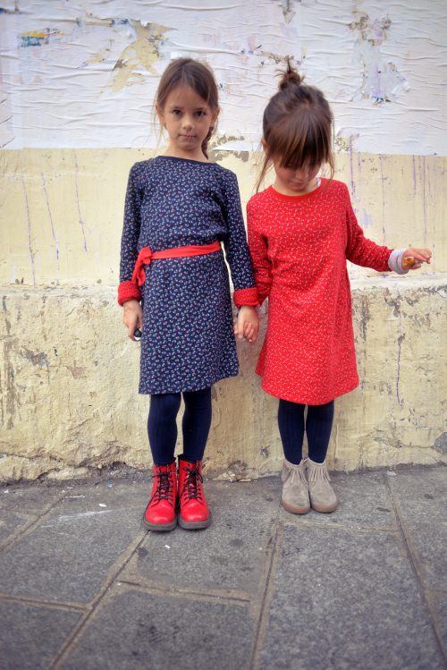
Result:
M179 525L186 530L207 528L211 512L203 492L202 462L179 456Z

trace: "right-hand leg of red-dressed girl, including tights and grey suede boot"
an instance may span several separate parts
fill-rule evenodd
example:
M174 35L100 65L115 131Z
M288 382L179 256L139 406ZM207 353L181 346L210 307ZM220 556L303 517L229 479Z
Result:
M332 426L333 401L324 405L308 406L306 432L309 457L306 471L310 505L316 512L333 512L338 506L325 463Z

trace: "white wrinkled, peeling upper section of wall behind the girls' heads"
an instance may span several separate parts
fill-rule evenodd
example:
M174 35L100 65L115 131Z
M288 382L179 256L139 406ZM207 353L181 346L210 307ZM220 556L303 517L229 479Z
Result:
M342 137L359 151L447 152L443 30L437 0L248 0L144 4L86 0L0 14L0 143L23 147L156 147L149 123L159 75L190 55L219 81L221 129L250 149L287 56L333 105ZM154 21L156 17L156 21ZM424 82L421 104L420 82ZM384 131L385 129L385 131ZM342 139L339 149L347 150ZM234 150L247 150L247 147Z

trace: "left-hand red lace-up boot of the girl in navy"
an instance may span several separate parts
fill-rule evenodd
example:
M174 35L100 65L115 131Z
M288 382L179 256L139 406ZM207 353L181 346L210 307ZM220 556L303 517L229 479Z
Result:
M154 463L154 483L143 516L148 530L173 530L177 525L177 471L175 461L169 465Z

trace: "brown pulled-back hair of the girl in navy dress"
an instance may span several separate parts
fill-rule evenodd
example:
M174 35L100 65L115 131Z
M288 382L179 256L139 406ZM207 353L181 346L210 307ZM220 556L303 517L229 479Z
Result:
M195 93L206 101L213 111L219 108L219 94L215 75L206 64L199 63L192 58L176 58L162 74L156 89L156 107L164 110L166 100L173 89L178 86L189 86ZM202 142L202 151L206 157L208 141L215 131L215 125L210 126L207 137Z

